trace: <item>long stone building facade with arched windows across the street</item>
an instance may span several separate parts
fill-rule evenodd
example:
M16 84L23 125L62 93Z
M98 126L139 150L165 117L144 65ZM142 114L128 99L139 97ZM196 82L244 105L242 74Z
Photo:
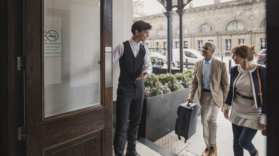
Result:
M184 48L200 50L205 41L216 43L216 55L231 55L240 44L266 49L266 0L235 0L190 7L183 15ZM164 13L134 18L151 23L153 30L144 43L149 48L166 48L167 18ZM173 48L179 48L179 16L173 11Z

